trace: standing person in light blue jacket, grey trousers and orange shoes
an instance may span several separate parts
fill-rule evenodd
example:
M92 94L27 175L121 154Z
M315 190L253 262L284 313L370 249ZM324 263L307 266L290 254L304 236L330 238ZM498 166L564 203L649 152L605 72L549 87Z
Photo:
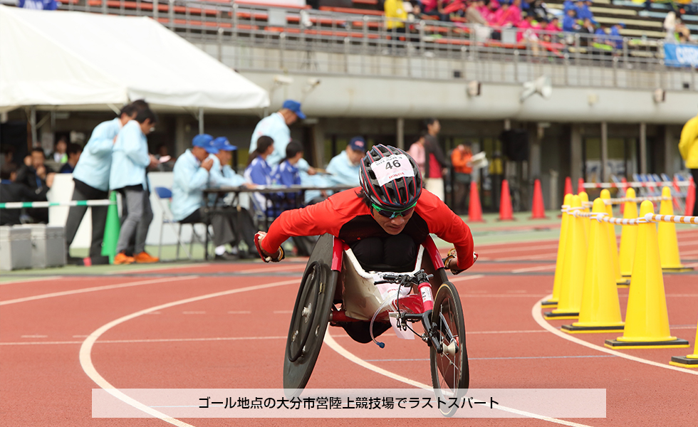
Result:
M121 128L112 149L109 188L121 193L125 218L121 223L116 246L115 264L155 263L158 258L145 251L145 238L152 221L147 167L157 166L157 159L148 153L147 135L152 132L157 115L150 108L137 112ZM133 256L126 255L131 238L135 236Z

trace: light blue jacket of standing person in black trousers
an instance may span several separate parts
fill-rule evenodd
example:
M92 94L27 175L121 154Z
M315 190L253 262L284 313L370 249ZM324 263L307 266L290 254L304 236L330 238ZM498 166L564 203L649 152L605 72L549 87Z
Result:
M75 165L73 178L83 181L88 186L102 191L109 191L109 173L112 164L114 137L119 135L121 120L117 117L102 122L90 135L90 140L80 154Z

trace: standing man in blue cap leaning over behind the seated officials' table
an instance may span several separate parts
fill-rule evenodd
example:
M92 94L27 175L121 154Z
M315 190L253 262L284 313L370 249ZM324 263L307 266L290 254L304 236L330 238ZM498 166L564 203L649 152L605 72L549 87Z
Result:
M254 132L252 132L249 152L254 152L257 148L257 139L259 137L271 137L271 139L274 139L274 152L266 158L266 163L272 168L275 167L286 157L286 145L288 145L288 142L291 142L291 130L288 127L293 125L296 120L305 120L305 118L306 115L301 111L301 102L294 100L283 101L281 110L264 117L257 123ZM308 174L315 174L315 169L305 159L301 159L296 167L303 172L308 172Z

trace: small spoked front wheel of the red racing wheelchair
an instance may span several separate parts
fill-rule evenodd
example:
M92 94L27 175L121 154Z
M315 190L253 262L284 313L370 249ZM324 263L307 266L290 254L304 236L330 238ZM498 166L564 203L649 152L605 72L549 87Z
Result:
M445 325L444 325L445 320ZM444 416L453 416L458 404L449 408L453 398L461 399L470 385L470 371L468 367L468 352L465 342L465 321L463 307L456 287L446 282L439 287L434 297L434 311L432 311L432 323L439 331L440 340L444 347L442 354L432 346L429 351L429 359L432 367L432 385L434 394L438 399L447 402L439 404ZM452 344L447 334L451 331L455 339L456 348L451 345L453 353L449 352L447 345ZM460 403L460 401L458 400Z

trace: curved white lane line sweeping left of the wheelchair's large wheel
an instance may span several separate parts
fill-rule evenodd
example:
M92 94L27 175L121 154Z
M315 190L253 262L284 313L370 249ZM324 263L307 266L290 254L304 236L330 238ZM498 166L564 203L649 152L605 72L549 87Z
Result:
M239 288L239 289L231 289L231 290L225 290L223 292L214 292L211 294L207 295L200 295L198 297L191 297L191 298L186 298L184 300L178 300L174 302L168 302L167 304L162 304L162 305L156 305L155 307L150 307L146 308L144 310L137 311L135 313L131 313L130 315L126 315L124 317L120 317L117 320L113 320L106 325L103 325L99 327L95 332L92 332L90 336L83 341L83 344L80 346L80 366L83 368L83 371L85 371L85 374L90 377L92 381L95 381L95 384L100 386L102 389L105 389L109 394L114 396L117 399L120 399L121 401L124 401L126 404L129 404L130 406L133 406L134 408L137 408L140 411L143 411L145 413L148 413L152 416L155 416L156 418L160 418L162 421L165 421L166 423L170 423L174 426L178 427L194 427L191 424L184 423L184 421L179 421L177 418L172 418L170 416L167 416L165 413L162 413L160 411L156 411L153 408L149 408L145 404L140 403L139 401L132 399L130 396L127 396L126 394L123 393L123 391L120 391L119 389L116 389L112 384L110 384L109 381L104 379L103 376L99 374L97 369L95 369L95 365L92 363L92 347L95 345L95 342L97 339L102 336L105 332L108 330L112 329L113 327L122 324L123 322L127 322L128 320L135 319L136 317L142 316L147 314L148 312L153 312L157 310L165 310L166 308L170 307L175 307L176 305L182 305L182 304L187 304L189 302L197 302L197 301L202 301L202 300L207 300L209 298L214 298L214 297L222 297L224 295L232 295L235 293L239 292L247 292L250 290L261 290L261 289L266 289L266 288L274 288L277 286L283 286L283 285L292 285L292 284L297 284L298 280L286 280L283 282L276 282L276 283L268 283L266 285L255 285L255 286L249 286L247 288Z

